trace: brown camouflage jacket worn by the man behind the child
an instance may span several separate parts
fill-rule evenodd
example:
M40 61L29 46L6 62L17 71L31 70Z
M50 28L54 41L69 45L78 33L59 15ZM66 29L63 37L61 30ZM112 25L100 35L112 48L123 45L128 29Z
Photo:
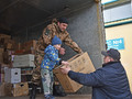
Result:
M70 38L69 33L67 31L62 32L57 25L57 21L54 19L52 24L48 24L44 30L43 34L38 38L38 42L36 44L36 58L37 55L41 55L40 61L35 62L35 64L41 64L43 56L44 56L44 50L47 45L52 43L52 38L54 36L58 36L62 42L64 42L66 45L72 47L75 52L81 53L81 48Z

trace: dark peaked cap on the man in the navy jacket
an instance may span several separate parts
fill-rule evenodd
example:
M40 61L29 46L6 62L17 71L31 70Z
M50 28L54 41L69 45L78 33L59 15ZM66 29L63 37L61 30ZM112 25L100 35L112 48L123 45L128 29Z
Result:
M105 55L105 56L110 56L110 57L112 57L113 59L117 59L117 61L120 61L120 58L121 58L121 55L120 55L119 51L114 50L114 48L110 48L107 52L102 51L101 54Z

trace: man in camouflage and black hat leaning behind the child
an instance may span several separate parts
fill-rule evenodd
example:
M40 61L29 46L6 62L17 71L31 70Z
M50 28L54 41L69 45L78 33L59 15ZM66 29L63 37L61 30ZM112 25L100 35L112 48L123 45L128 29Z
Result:
M41 74L40 66L44 57L44 50L47 45L52 43L52 38L56 35L64 42L66 45L72 47L77 53L82 53L81 48L70 38L69 33L66 31L68 26L68 21L66 18L59 18L58 20L54 19L52 24L48 24L44 30L43 34L37 41L35 48L35 66L33 70L32 82L33 85L40 85ZM64 52L64 48L61 48L61 52ZM33 98L32 98L33 99Z

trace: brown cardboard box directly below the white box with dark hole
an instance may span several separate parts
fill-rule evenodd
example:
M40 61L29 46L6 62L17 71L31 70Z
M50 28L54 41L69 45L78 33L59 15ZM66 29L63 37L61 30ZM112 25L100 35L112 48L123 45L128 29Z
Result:
M29 95L29 85L28 82L13 84L13 96L28 96Z

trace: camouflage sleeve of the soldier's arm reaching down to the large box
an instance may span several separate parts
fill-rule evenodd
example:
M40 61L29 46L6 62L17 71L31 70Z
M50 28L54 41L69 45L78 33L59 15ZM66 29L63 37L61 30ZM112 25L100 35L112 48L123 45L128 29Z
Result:
M69 34L65 38L65 44L72 47L77 53L82 53L81 48L70 38Z

